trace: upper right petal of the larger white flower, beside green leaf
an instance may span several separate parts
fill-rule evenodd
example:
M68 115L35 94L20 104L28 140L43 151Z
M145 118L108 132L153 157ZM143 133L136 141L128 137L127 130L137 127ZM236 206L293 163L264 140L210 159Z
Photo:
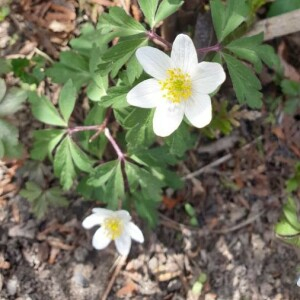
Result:
M210 94L214 92L224 81L226 75L219 63L201 62L193 70L193 92Z

